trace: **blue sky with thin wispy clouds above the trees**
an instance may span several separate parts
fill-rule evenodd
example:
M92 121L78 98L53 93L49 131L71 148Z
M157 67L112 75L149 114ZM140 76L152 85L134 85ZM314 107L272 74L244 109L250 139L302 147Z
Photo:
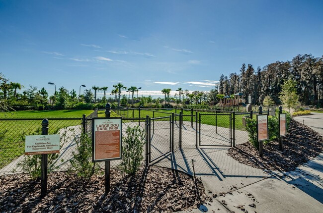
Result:
M50 94L48 82L209 91L242 63L322 56L322 11L321 0L0 0L0 72Z

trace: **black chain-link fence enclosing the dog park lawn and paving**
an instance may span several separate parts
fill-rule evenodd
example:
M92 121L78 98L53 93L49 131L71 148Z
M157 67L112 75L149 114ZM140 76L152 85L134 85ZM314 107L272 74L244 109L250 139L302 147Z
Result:
M261 108L259 108L261 109ZM145 162L154 163L162 156L179 149L198 146L235 146L248 141L245 119L254 118L259 112L235 112L221 110L175 109L161 111L151 108L116 108L123 117L123 133L127 127L139 125L146 133ZM275 115L275 110L260 111ZM49 134L61 135L59 158L55 159L55 170L70 169L70 160L76 152L76 142L81 133L92 134L92 118L95 110L82 118L47 118ZM0 119L0 174L22 172L25 135L41 134L43 118ZM111 161L117 166L120 160ZM102 163L102 167L104 164Z

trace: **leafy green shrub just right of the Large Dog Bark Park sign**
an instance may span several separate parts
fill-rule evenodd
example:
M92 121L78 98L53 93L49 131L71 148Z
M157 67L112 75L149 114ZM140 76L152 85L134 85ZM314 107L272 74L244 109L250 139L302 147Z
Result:
M139 126L129 127L126 136L122 137L121 169L127 174L135 174L144 159L145 131Z

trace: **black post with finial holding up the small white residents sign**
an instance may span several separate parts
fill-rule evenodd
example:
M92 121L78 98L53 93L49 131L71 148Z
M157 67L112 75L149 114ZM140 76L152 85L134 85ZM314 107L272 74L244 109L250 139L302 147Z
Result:
M48 135L48 123L47 119L42 121L42 135ZM47 154L43 154L41 157L41 198L47 195L47 160Z

